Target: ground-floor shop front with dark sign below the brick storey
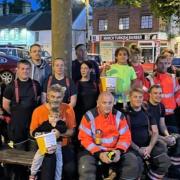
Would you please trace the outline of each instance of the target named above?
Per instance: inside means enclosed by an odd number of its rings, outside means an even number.
[[[157,33],[92,35],[92,52],[101,54],[103,61],[114,61],[116,48],[137,44],[144,62],[153,63],[162,48],[168,46],[167,39]]]

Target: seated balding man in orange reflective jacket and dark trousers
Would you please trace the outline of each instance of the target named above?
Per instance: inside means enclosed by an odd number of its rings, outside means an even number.
[[[127,152],[131,134],[126,118],[113,109],[113,104],[112,94],[103,92],[97,107],[82,118],[78,136],[83,147],[79,154],[80,180],[95,180],[99,163],[113,169],[120,179],[137,179],[139,175],[137,157]]]

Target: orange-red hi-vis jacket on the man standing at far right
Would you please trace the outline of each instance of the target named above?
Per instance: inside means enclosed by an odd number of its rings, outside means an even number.
[[[166,115],[173,114],[176,108],[176,100],[180,86],[174,74],[169,73],[155,73],[146,77],[144,81],[143,90],[148,92],[148,89],[154,85],[159,84],[162,88],[161,103],[165,106]],[[147,98],[147,95],[145,95]],[[147,99],[146,99],[147,100]]]

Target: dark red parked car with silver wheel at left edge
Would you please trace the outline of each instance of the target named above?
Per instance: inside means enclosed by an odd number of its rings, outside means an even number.
[[[17,68],[17,57],[0,55],[0,76],[5,84],[13,81]]]

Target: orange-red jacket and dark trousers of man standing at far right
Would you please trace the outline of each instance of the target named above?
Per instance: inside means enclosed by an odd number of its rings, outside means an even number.
[[[179,106],[180,86],[173,74],[169,73],[154,73],[146,77],[143,90],[147,93],[148,89],[159,84],[162,88],[162,104],[165,106],[165,121],[169,132],[177,133],[178,125],[175,118],[174,110]],[[145,94],[145,99],[148,100],[148,95]]]

